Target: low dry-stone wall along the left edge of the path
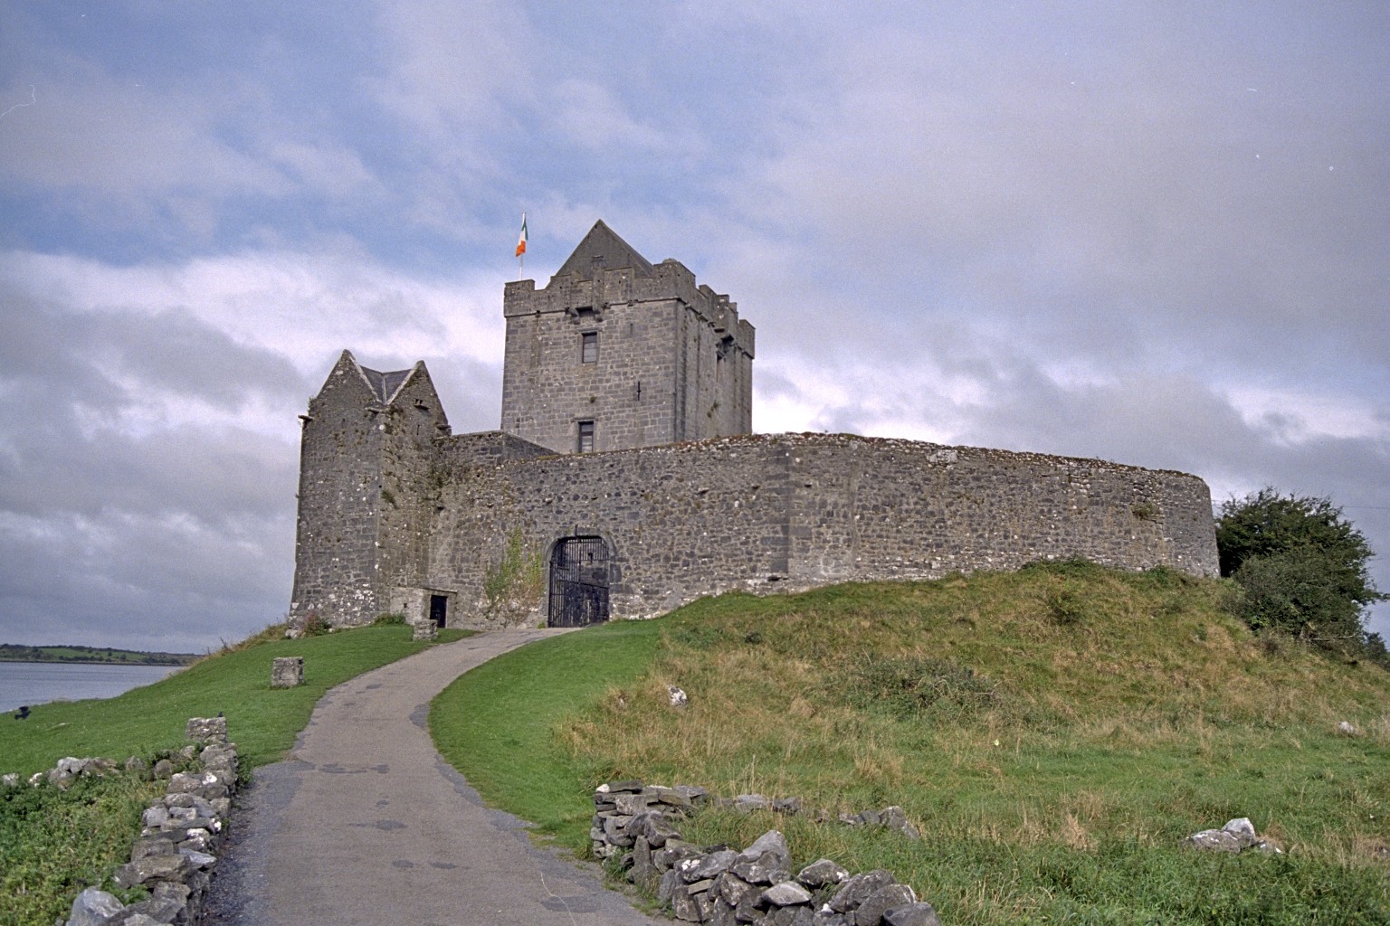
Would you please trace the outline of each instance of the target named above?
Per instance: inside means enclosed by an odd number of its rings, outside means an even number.
[[[217,865],[217,847],[236,791],[236,744],[227,741],[225,718],[193,718],[188,747],[197,771],[174,772],[168,789],[143,815],[131,861],[115,870],[121,887],[145,886],[150,897],[124,905],[107,891],[89,887],[72,902],[65,926],[195,926]],[[156,775],[158,773],[156,765]]]

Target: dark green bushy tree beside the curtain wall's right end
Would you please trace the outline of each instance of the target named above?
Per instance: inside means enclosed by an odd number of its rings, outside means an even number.
[[[1371,544],[1327,498],[1261,489],[1230,498],[1216,521],[1220,573],[1244,591],[1241,616],[1340,653],[1376,658],[1384,643],[1364,626],[1387,596],[1366,568]]]

